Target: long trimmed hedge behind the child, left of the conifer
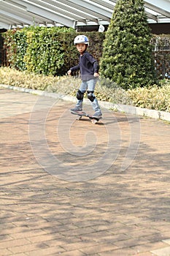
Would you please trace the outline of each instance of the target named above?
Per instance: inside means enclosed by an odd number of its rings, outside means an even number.
[[[9,30],[4,33],[8,65],[20,71],[43,75],[65,75],[77,64],[74,29],[34,27]],[[100,59],[104,34],[86,32],[90,39],[90,53]]]

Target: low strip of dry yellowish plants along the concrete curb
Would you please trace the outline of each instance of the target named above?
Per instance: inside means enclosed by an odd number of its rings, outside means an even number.
[[[35,75],[1,67],[0,83],[75,96],[81,80],[69,76]],[[95,94],[97,99],[101,101],[170,112],[170,80],[163,80],[160,86],[154,85],[149,88],[143,87],[125,91],[115,83],[100,78],[96,84]]]

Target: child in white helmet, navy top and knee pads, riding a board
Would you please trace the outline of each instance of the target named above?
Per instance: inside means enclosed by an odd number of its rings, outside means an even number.
[[[101,109],[98,105],[98,100],[94,95],[94,89],[98,80],[98,63],[93,56],[86,50],[89,45],[88,37],[80,35],[74,38],[74,45],[76,45],[77,50],[80,53],[80,61],[77,66],[69,69],[68,74],[71,75],[72,72],[80,69],[82,83],[80,89],[77,91],[77,105],[72,108],[71,111],[82,112],[82,101],[85,91],[88,92],[88,99],[90,99],[93,110],[95,113],[94,117],[101,118]]]

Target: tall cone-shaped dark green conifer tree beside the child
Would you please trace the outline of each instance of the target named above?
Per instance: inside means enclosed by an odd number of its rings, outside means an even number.
[[[117,0],[104,39],[101,76],[123,89],[156,83],[143,0]]]

